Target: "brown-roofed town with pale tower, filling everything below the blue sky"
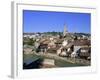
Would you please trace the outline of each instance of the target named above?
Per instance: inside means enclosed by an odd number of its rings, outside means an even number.
[[[91,35],[62,32],[23,33],[23,69],[91,65]]]

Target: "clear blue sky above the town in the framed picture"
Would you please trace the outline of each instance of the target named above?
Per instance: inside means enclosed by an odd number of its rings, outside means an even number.
[[[62,32],[64,25],[66,25],[68,32],[90,33],[91,14],[23,10],[24,33]]]

